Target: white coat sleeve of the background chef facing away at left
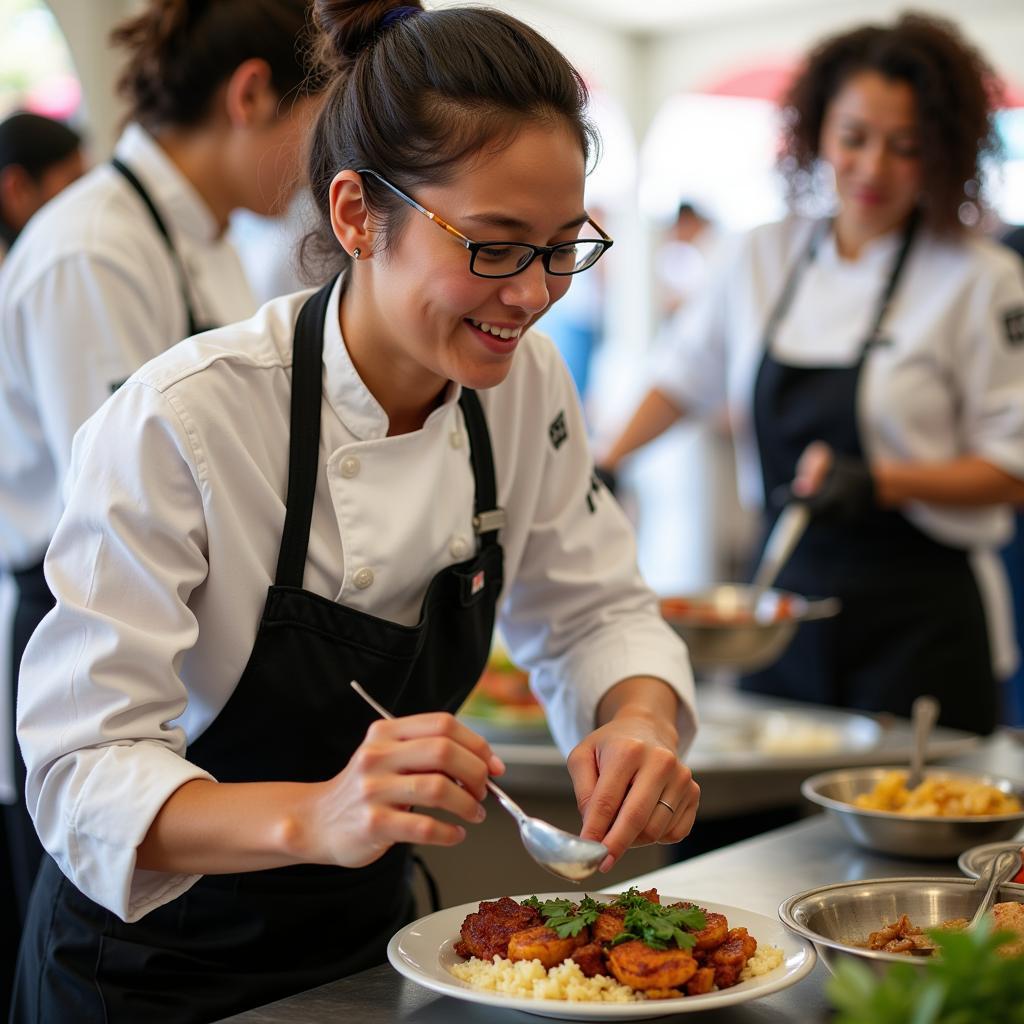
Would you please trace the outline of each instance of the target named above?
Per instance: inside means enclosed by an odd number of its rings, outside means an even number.
[[[83,252],[54,263],[18,301],[29,379],[60,481],[75,431],[138,368],[130,353],[168,347],[152,290],[123,260]]]

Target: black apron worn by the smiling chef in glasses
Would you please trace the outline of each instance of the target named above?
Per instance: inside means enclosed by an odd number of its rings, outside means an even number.
[[[460,406],[476,486],[478,554],[433,578],[417,626],[302,589],[324,458],[331,287],[306,302],[295,332],[287,516],[275,582],[234,693],[188,748],[188,760],[221,782],[331,778],[377,717],[349,680],[359,680],[397,715],[454,712],[490,648],[504,514],[497,509],[486,422],[468,389]],[[358,869],[298,865],[206,876],[132,925],[83,896],[47,859],[22,945],[12,1016],[18,1024],[217,1020],[382,963],[390,936],[413,918],[406,846]]]

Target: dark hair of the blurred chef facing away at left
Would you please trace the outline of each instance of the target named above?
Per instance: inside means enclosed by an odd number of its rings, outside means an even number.
[[[269,65],[283,99],[315,91],[309,22],[306,0],[148,0],[111,33],[129,51],[118,91],[151,129],[203,121],[217,88],[252,57]]]

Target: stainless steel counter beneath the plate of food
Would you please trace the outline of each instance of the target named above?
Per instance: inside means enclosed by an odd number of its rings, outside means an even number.
[[[956,759],[958,766],[1024,779],[1024,746],[1009,734],[986,741]],[[831,818],[815,816],[784,828],[633,880],[667,894],[722,902],[774,918],[793,893],[830,882],[900,876],[957,874],[952,861],[904,860],[853,846]],[[499,887],[500,888],[500,887]],[[494,895],[500,895],[498,891]],[[738,1007],[680,1014],[667,1021],[715,1024],[824,1022],[827,971],[820,965],[803,981],[773,995]],[[385,965],[259,1010],[231,1017],[232,1024],[528,1024],[543,1018],[496,1011],[440,996],[404,980]]]

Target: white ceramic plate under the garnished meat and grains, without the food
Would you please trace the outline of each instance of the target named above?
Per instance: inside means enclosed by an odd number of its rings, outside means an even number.
[[[581,892],[538,893],[541,899],[579,900]],[[597,900],[610,902],[613,896],[593,894]],[[495,897],[496,899],[498,897]],[[523,896],[514,896],[521,900]],[[693,1013],[699,1010],[714,1010],[716,1007],[730,1006],[758,999],[762,995],[777,992],[796,984],[814,967],[814,947],[803,939],[787,932],[778,921],[751,913],[723,903],[707,903],[694,896],[662,896],[665,903],[675,903],[679,899],[691,899],[715,913],[724,913],[730,928],[745,928],[758,940],[758,945],[778,946],[784,959],[779,967],[760,978],[742,981],[732,988],[707,995],[687,995],[678,999],[657,999],[641,1002],[567,1002],[560,999],[523,999],[510,995],[499,995],[471,988],[449,972],[454,964],[464,963],[454,945],[460,937],[460,929],[467,914],[475,913],[479,903],[464,903],[447,910],[439,910],[407,925],[388,943],[387,955],[391,966],[410,981],[418,985],[450,995],[455,999],[481,1002],[503,1010],[522,1010],[540,1017],[556,1017],[573,1021],[625,1021],[650,1020],[654,1017],[670,1017],[673,1014]]]

